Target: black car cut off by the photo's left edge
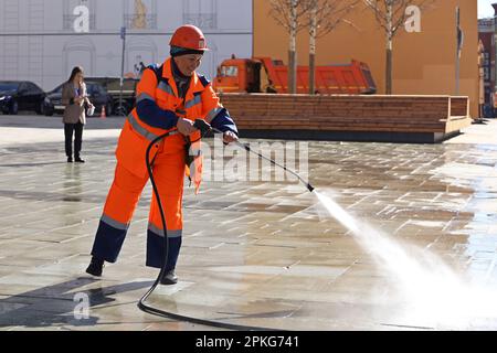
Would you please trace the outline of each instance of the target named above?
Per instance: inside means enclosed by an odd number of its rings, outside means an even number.
[[[0,81],[0,110],[17,115],[19,110],[44,113],[46,94],[29,81]]]

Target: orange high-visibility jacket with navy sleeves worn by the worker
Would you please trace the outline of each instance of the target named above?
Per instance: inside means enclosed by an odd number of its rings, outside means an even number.
[[[166,151],[179,152],[184,149],[184,138],[176,130],[178,117],[192,121],[201,118],[223,132],[237,133],[236,126],[220,104],[212,85],[203,76],[194,73],[186,98],[178,97],[171,65],[171,58],[168,58],[163,63],[161,77],[157,77],[157,69],[154,67],[144,72],[137,85],[137,107],[127,117],[119,136],[117,161],[138,176],[146,176],[145,152],[158,136],[171,132],[165,141]],[[190,139],[200,139],[200,131],[192,133]],[[150,150],[150,160],[154,160],[157,150],[158,146]]]

